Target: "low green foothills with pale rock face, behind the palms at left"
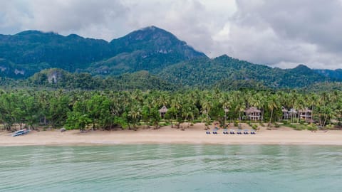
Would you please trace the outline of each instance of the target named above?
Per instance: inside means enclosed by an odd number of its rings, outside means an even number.
[[[12,82],[13,83],[13,82]],[[173,85],[147,71],[125,73],[116,77],[100,78],[89,73],[69,73],[57,68],[42,70],[28,80],[21,82],[21,87],[63,88],[81,90],[176,90]]]

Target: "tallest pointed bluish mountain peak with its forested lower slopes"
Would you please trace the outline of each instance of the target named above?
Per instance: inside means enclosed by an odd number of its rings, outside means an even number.
[[[172,33],[150,26],[110,42],[114,57],[90,65],[88,72],[105,75],[157,71],[192,58],[207,58]]]

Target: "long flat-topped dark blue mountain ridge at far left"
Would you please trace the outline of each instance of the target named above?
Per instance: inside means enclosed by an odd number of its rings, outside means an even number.
[[[24,71],[43,63],[45,68],[73,72],[111,55],[111,46],[107,41],[76,35],[23,31],[14,36],[0,36],[0,58],[13,63],[13,68],[20,67]]]

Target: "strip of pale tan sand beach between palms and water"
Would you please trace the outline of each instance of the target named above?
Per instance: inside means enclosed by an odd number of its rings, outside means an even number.
[[[187,127],[187,125],[183,125]],[[247,127],[244,124],[244,127]],[[280,127],[266,130],[261,127],[257,134],[205,134],[204,124],[198,123],[185,131],[171,128],[160,129],[89,131],[79,130],[60,132],[58,129],[31,131],[24,136],[11,137],[9,132],[0,132],[0,146],[31,145],[102,145],[102,144],[308,144],[342,145],[342,131],[328,132],[295,131]]]

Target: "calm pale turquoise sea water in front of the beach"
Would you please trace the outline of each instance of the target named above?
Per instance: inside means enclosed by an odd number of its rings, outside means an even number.
[[[3,146],[0,154],[0,191],[342,190],[342,146]]]

